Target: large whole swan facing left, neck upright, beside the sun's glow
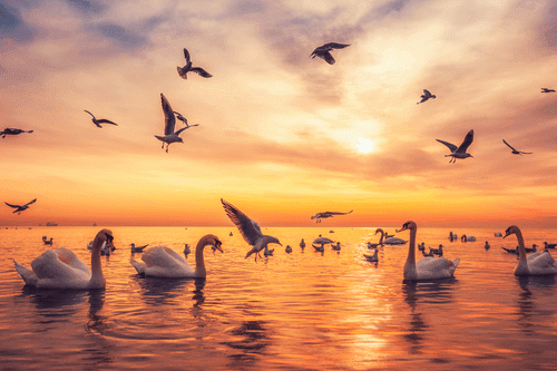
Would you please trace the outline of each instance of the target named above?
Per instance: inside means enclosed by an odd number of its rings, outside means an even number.
[[[404,281],[429,281],[439,279],[450,279],[460,258],[449,261],[447,257],[423,257],[416,262],[416,231],[418,226],[414,222],[407,222],[397,232],[410,230],[410,244],[408,247],[407,263],[404,264]]]

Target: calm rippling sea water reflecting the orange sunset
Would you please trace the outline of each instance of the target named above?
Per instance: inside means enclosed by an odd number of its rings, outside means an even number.
[[[452,230],[478,242],[450,243],[447,228],[418,228],[418,242],[442,243],[461,262],[453,280],[403,284],[408,244],[369,263],[374,228],[330,230],[270,227],[293,253],[276,246],[255,263],[233,227],[113,227],[107,287],[63,291],[26,287],[11,258],[30,266],[50,248],[47,235],[89,265],[99,227],[2,228],[2,370],[556,370],[556,279],[512,274],[517,258],[500,247],[515,247],[515,236]],[[182,252],[207,233],[224,254],[205,250],[206,280],[143,279],[129,264],[133,242]],[[557,243],[555,230],[522,233],[527,246]],[[340,241],[340,253],[300,248],[319,234]]]

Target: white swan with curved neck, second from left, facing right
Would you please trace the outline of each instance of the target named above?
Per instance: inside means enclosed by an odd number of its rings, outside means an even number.
[[[182,255],[166,246],[155,246],[147,248],[143,253],[141,260],[144,263],[130,257],[129,262],[136,269],[137,273],[146,276],[167,277],[167,279],[186,279],[186,277],[205,277],[205,261],[203,258],[203,250],[205,246],[215,246],[221,253],[222,242],[217,236],[207,234],[203,236],[195,247],[195,270],[186,262]]]

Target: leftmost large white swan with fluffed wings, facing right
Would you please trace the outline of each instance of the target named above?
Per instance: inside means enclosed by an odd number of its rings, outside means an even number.
[[[49,289],[104,289],[106,280],[100,265],[100,250],[113,245],[113,232],[102,230],[92,242],[91,269],[68,248],[48,250],[31,262],[32,271],[13,261],[26,284]]]

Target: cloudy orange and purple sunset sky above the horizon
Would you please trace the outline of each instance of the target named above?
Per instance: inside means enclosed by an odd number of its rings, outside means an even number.
[[[557,221],[555,1],[0,0],[0,129],[33,130],[0,138],[1,202],[37,198],[0,225]],[[160,94],[199,124],[168,153]]]

